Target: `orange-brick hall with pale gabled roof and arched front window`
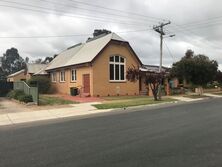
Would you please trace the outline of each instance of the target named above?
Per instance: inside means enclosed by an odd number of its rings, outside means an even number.
[[[85,96],[138,95],[139,81],[126,79],[130,66],[142,63],[129,42],[109,33],[61,52],[46,71],[55,93],[70,94],[76,87]]]

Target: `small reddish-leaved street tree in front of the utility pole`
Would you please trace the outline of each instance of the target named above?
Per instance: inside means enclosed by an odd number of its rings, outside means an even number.
[[[126,75],[127,80],[135,82],[141,77],[145,78],[144,84],[151,88],[154,100],[160,100],[160,97],[158,98],[158,89],[166,77],[166,74],[164,72],[140,71],[139,68],[136,69],[135,67],[128,68]]]

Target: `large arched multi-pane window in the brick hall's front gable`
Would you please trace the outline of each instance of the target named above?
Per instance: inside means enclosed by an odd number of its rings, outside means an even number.
[[[125,58],[118,55],[109,58],[110,81],[125,81],[125,63]]]

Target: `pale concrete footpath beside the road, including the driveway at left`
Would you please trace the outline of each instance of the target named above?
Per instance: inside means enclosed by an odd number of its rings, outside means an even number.
[[[213,95],[213,94],[205,94],[205,95],[209,97],[213,97],[213,98],[222,97],[222,96]],[[192,101],[204,99],[204,98],[192,99],[192,98],[187,98],[187,97],[182,97],[182,96],[170,96],[170,98],[173,98],[178,101],[183,101],[183,102],[192,102]],[[91,103],[71,104],[70,106],[65,107],[65,108],[28,111],[27,107],[16,104],[16,102],[11,102],[10,100],[7,100],[7,99],[4,99],[4,102],[2,101],[0,102],[1,102],[0,103],[0,126],[15,125],[19,123],[42,121],[42,120],[85,116],[85,115],[111,112],[114,110],[114,109],[98,110],[92,105],[98,104],[99,102],[91,102]],[[4,109],[5,106],[7,106],[9,109],[8,110]]]

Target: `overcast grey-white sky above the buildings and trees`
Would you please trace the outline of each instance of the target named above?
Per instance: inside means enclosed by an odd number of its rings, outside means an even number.
[[[94,29],[108,29],[127,40],[143,64],[179,61],[187,49],[218,62],[222,69],[220,0],[0,0],[0,56],[15,47],[30,60],[53,56],[85,42]],[[169,35],[175,34],[174,37]]]

